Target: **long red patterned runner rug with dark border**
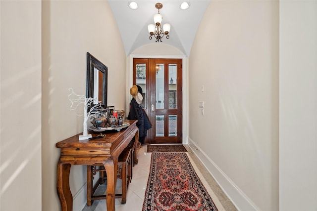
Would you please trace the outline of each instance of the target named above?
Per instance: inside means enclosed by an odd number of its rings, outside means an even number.
[[[154,152],[143,211],[217,211],[186,153]]]

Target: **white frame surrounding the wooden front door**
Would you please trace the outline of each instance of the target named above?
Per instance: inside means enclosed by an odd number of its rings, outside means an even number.
[[[183,144],[188,144],[188,121],[187,121],[187,69],[186,69],[186,56],[181,55],[136,55],[136,54],[130,54],[129,55],[129,65],[127,67],[127,79],[126,82],[129,84],[128,87],[126,87],[127,94],[126,94],[126,113],[130,110],[130,101],[131,101],[131,94],[130,94],[130,87],[133,85],[133,58],[162,58],[162,59],[182,59],[182,84],[183,84],[183,90],[182,90],[182,130],[183,130]]]

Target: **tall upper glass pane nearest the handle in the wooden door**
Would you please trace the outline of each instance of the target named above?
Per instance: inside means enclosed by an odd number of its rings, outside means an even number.
[[[164,64],[157,64],[156,71],[156,109],[164,108]]]

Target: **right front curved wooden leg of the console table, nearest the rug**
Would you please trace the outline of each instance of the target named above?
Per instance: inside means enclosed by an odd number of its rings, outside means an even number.
[[[107,211],[115,211],[115,186],[117,182],[118,158],[108,158],[104,164],[107,174]]]

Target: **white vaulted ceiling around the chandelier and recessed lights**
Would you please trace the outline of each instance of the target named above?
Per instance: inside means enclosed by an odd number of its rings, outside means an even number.
[[[169,39],[165,36],[162,43],[170,44],[189,56],[200,21],[210,0],[186,0],[190,7],[181,10],[180,4],[185,0],[135,0],[138,8],[133,10],[128,6],[131,0],[108,0],[114,18],[117,22],[126,55],[136,48],[153,43],[149,39],[148,25],[154,24],[153,16],[158,13],[156,3],[162,3],[159,10],[162,23],[171,25]],[[160,44],[160,43],[158,43]]]

